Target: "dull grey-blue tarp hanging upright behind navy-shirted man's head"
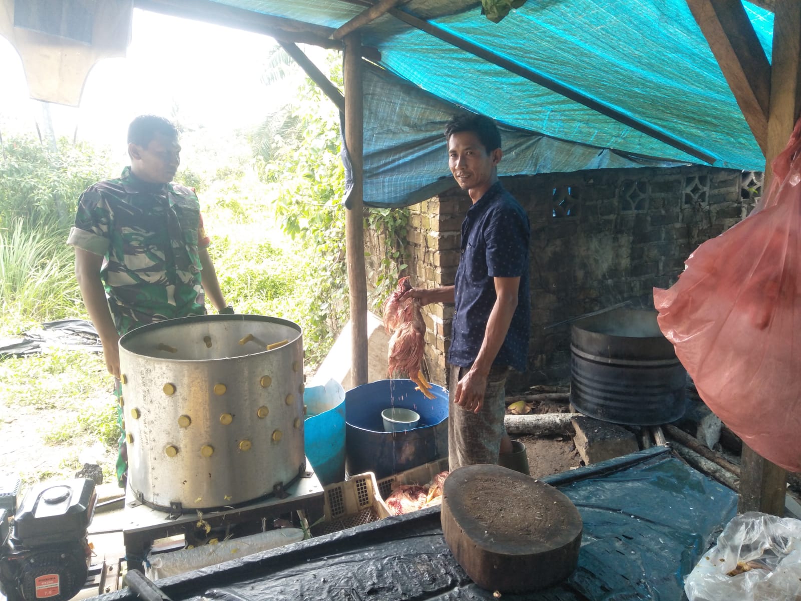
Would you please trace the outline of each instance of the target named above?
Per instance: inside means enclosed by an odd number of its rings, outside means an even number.
[[[404,207],[453,188],[445,123],[460,108],[377,67],[364,70],[364,203]],[[686,163],[566,142],[500,124],[500,175]],[[349,167],[347,157],[345,164]],[[348,189],[350,170],[346,169]]]

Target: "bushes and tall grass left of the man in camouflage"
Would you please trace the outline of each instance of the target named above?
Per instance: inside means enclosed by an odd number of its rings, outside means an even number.
[[[108,156],[61,139],[56,151],[12,137],[0,162],[0,333],[74,316],[80,295],[64,245],[84,188],[108,174]]]

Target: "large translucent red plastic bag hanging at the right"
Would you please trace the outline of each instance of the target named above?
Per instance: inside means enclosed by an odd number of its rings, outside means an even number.
[[[751,216],[654,288],[662,333],[706,405],[763,458],[801,471],[801,120]]]

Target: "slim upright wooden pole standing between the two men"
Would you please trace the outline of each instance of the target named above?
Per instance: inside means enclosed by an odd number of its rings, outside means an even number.
[[[351,384],[367,384],[367,274],[364,268],[364,96],[361,79],[361,36],[344,38],[345,144],[353,189],[345,214],[345,244],[350,291]]]

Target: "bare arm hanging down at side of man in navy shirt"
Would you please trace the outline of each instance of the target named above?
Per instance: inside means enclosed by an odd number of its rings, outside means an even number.
[[[459,381],[454,400],[457,405],[475,413],[478,413],[484,404],[489,368],[493,366],[506,333],[509,332],[509,325],[512,324],[512,317],[517,309],[517,292],[520,288],[519,277],[496,277],[493,280],[497,298],[492,312],[489,313],[484,341],[481,342],[481,349],[473,361],[473,366]]]

